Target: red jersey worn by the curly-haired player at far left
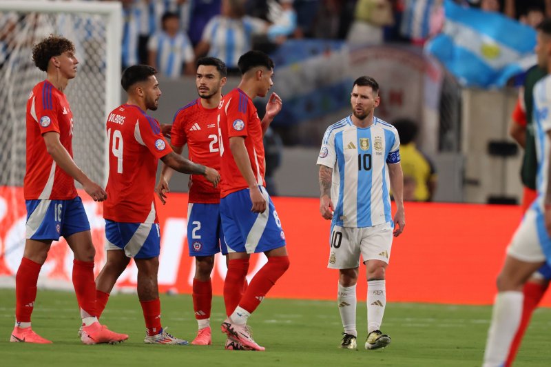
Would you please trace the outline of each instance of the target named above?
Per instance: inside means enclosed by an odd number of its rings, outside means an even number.
[[[46,150],[43,134],[59,133],[59,141],[73,156],[73,114],[63,92],[41,81],[27,101],[27,171],[23,181],[25,200],[68,200],[76,197],[74,179],[59,168]]]

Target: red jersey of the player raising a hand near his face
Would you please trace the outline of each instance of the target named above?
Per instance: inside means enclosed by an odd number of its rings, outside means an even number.
[[[262,126],[252,99],[239,88],[232,90],[224,97],[224,101],[220,105],[219,128],[222,137],[222,146],[220,147],[222,157],[220,162],[221,197],[249,187],[231,155],[231,150],[229,150],[229,138],[231,137],[245,138],[245,147],[249,153],[249,161],[256,181],[259,186],[266,186]]]

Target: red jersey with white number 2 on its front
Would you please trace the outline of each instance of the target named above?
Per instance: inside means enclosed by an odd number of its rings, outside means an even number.
[[[220,170],[218,148],[218,108],[204,108],[200,99],[180,108],[174,115],[170,132],[173,146],[187,143],[189,160],[215,170]],[[189,202],[203,204],[220,203],[220,188],[201,175],[191,175]]]

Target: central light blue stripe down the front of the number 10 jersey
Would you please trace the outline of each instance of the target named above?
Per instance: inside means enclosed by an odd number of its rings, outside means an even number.
[[[362,139],[368,139],[369,148],[362,150]],[[356,147],[358,152],[356,221],[358,227],[371,227],[371,184],[373,182],[373,139],[371,129],[356,129]],[[366,169],[368,168],[368,169]]]

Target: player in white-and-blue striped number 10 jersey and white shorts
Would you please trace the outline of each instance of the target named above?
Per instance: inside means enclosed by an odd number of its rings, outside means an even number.
[[[379,103],[377,81],[356,79],[352,115],[327,128],[318,157],[320,212],[324,219],[331,219],[328,268],[339,269],[337,302],[344,327],[341,348],[348,349],[357,344],[360,254],[368,285],[365,348],[384,348],[391,343],[391,337],[380,331],[386,306],[385,270],[393,235],[399,236],[406,225],[398,132],[373,115]],[[394,217],[390,189],[397,208]]]

